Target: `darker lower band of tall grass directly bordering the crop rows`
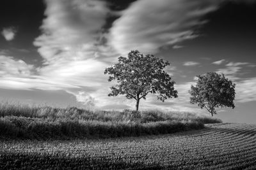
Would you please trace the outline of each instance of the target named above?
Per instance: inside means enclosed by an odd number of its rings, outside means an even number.
[[[67,120],[25,117],[1,117],[0,139],[83,139],[115,138],[167,134],[171,132],[201,129],[204,124],[186,121],[100,122],[95,120]]]

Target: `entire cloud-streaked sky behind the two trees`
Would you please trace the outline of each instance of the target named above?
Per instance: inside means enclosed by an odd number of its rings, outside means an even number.
[[[0,100],[92,110],[134,109],[108,97],[104,69],[131,50],[170,62],[178,98],[140,102],[140,110],[208,114],[189,103],[196,75],[223,73],[236,83],[223,122],[256,123],[254,0],[2,0]]]

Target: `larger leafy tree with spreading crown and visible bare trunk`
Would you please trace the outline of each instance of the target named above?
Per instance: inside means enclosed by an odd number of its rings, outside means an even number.
[[[143,55],[138,50],[128,53],[128,57],[119,57],[118,63],[105,69],[104,74],[110,74],[108,81],[116,80],[117,85],[110,87],[108,96],[125,95],[127,99],[136,100],[138,111],[140,99],[146,99],[148,93],[158,94],[157,99],[164,102],[167,98],[178,97],[174,90],[172,78],[163,71],[170,65],[168,61]]]

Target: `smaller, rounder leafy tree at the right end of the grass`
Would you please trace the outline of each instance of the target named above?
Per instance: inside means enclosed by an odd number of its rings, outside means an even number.
[[[216,114],[215,108],[235,108],[236,84],[225,78],[224,74],[207,73],[197,77],[195,87],[191,85],[189,90],[192,96],[190,103],[198,104],[201,109],[206,108],[212,117]]]

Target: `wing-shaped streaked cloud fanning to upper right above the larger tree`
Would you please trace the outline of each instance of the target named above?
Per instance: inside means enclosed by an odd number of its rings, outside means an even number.
[[[110,29],[109,43],[124,54],[129,50],[154,53],[160,47],[193,39],[193,27],[207,22],[202,17],[220,1],[141,0],[131,4]]]

